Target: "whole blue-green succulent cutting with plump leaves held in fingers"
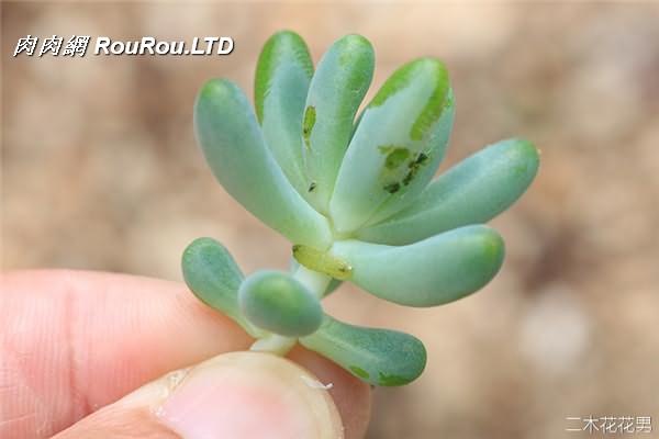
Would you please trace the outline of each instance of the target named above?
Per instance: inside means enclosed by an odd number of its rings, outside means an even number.
[[[284,354],[295,342],[372,385],[402,385],[423,371],[415,337],[343,323],[321,300],[348,281],[383,300],[436,306],[485,285],[504,245],[482,225],[534,179],[538,153],[507,139],[437,179],[455,114],[445,66],[399,68],[356,117],[373,74],[359,35],[336,41],[315,71],[303,40],[279,32],[256,67],[255,110],[233,82],[212,79],[194,105],[198,143],[225,190],[292,244],[289,273],[244,277],[211,238],[185,250],[192,292]]]

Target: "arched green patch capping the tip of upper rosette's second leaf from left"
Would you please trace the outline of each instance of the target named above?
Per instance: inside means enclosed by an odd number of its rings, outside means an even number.
[[[302,37],[291,31],[272,35],[264,45],[256,65],[254,101],[259,123],[264,120],[264,102],[272,77],[281,63],[295,63],[310,79],[313,76],[313,63]]]

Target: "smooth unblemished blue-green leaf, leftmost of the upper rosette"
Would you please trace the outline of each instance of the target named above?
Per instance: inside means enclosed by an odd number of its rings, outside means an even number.
[[[194,105],[194,128],[213,173],[245,209],[293,243],[328,246],[327,219],[291,187],[238,87],[206,82]]]

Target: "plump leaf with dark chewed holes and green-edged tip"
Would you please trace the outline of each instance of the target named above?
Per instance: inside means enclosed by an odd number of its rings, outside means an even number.
[[[330,213],[348,233],[409,204],[433,178],[453,125],[448,74],[433,58],[396,70],[366,108],[340,166]]]

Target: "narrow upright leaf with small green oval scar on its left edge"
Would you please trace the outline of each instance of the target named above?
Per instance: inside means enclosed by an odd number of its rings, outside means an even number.
[[[372,79],[373,49],[362,36],[346,35],[323,55],[311,80],[302,119],[308,200],[328,209],[336,175],[348,147],[357,109]]]

